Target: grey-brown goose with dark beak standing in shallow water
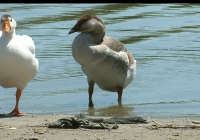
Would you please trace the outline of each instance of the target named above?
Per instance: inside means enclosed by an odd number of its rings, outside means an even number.
[[[118,93],[121,104],[123,89],[134,79],[136,60],[124,44],[105,37],[105,24],[93,15],[80,17],[69,34],[81,32],[72,43],[72,55],[87,75],[89,106],[93,106],[94,84],[101,89]]]

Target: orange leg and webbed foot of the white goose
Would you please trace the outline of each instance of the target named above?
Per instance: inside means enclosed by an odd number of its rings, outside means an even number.
[[[17,90],[16,91],[16,104],[15,104],[15,108],[13,109],[12,112],[9,113],[9,115],[12,115],[12,116],[25,116],[26,115],[23,112],[19,112],[19,108],[18,108],[21,94],[22,94],[21,90]]]

